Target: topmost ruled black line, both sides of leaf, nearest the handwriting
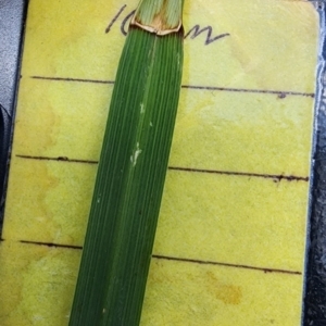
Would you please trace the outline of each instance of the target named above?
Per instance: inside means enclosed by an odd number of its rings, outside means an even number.
[[[65,78],[65,77],[30,76],[30,78],[42,79],[42,80],[53,80],[53,82],[114,84],[114,80],[98,80],[98,79],[82,79],[82,78]],[[196,86],[196,85],[183,85],[181,88],[201,89],[201,90],[217,90],[217,91],[234,91],[234,92],[271,93],[271,95],[277,95],[280,99],[284,99],[287,96],[300,96],[300,97],[310,97],[310,98],[314,98],[314,96],[315,96],[313,92],[301,92],[301,91],[290,91],[290,90],[265,90],[265,89],[228,88],[228,87]]]

